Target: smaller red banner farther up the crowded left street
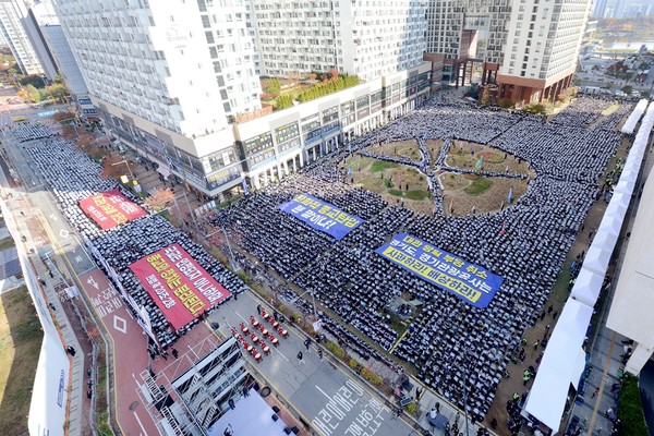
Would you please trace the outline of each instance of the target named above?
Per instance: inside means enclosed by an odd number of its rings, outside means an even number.
[[[84,198],[80,207],[102,230],[112,229],[137,218],[145,217],[147,213],[137,204],[130,202],[119,190],[111,190]]]

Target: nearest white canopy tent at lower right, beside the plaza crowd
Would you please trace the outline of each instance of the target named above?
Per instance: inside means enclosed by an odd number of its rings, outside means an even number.
[[[524,410],[556,432],[570,384],[577,388],[585,352],[582,349],[593,307],[568,299],[552,332]],[[581,366],[581,372],[580,372]]]

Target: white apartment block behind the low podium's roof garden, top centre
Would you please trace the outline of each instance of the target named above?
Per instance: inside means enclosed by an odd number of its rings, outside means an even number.
[[[422,62],[426,0],[250,1],[262,75],[336,69],[366,82]]]

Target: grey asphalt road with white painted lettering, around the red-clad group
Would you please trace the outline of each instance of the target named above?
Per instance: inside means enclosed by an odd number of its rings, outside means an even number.
[[[220,311],[210,315],[210,320],[220,325],[218,331],[230,336],[231,328],[240,331],[240,324],[245,324],[252,331],[262,337],[261,331],[253,329],[250,317],[272,331],[279,339],[279,347],[271,347],[270,355],[255,363],[246,356],[255,371],[275,388],[279,397],[292,403],[302,419],[312,429],[324,436],[401,436],[415,434],[402,417],[395,416],[392,410],[383,404],[380,399],[364,388],[363,384],[343,372],[324,356],[320,359],[315,342],[310,350],[304,346],[304,336],[288,328],[289,338],[283,339],[263,320],[256,312],[261,301],[244,293],[239,300],[230,300]],[[271,313],[268,305],[264,308]],[[267,341],[270,344],[269,341]],[[303,363],[298,360],[298,352],[303,353]],[[325,353],[326,354],[326,353]]]

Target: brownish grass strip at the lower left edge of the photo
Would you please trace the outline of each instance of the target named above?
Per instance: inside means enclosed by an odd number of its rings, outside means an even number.
[[[44,334],[25,287],[0,296],[0,435],[27,428]]]

